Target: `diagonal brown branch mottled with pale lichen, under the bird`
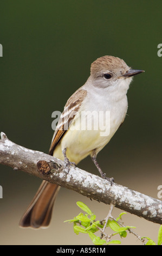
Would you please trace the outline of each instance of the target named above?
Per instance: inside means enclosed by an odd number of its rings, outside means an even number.
[[[17,145],[9,141],[3,132],[0,140],[0,163],[74,190],[99,202],[112,203],[116,208],[148,221],[162,224],[160,200],[116,183],[111,186],[107,180],[74,166],[71,166],[67,173],[66,164],[63,161],[40,151]]]

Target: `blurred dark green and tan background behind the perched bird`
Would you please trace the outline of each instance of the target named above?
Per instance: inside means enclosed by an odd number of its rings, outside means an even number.
[[[134,77],[125,122],[99,153],[98,162],[116,183],[157,198],[162,184],[162,57],[157,55],[161,8],[160,0],[3,1],[0,130],[17,144],[48,153],[54,132],[51,113],[62,111],[69,96],[86,82],[96,58],[120,57],[145,73]],[[98,174],[90,157],[79,167]],[[73,224],[63,221],[79,214],[78,200],[98,220],[107,216],[109,206],[65,188],[59,192],[48,229],[18,227],[40,183],[34,176],[0,166],[1,245],[91,245],[88,235],[74,234]],[[114,217],[120,212],[115,209]],[[158,224],[131,214],[124,222],[157,242]],[[131,234],[121,242],[141,244]]]

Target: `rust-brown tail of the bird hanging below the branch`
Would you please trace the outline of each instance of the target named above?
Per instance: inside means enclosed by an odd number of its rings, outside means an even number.
[[[47,228],[60,186],[43,181],[21,218],[20,227]]]

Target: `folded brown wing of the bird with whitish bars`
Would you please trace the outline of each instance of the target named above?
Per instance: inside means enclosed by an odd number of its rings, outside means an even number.
[[[49,149],[49,155],[53,155],[56,145],[60,142],[63,135],[68,130],[69,124],[72,124],[72,120],[74,119],[76,112],[79,110],[86,95],[87,91],[80,88],[68,99],[66,105],[64,106],[60,120],[56,126],[53,141],[51,142]]]

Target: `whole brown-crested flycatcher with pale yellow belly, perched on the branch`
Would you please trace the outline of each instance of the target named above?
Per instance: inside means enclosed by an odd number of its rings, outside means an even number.
[[[126,94],[129,84],[132,76],[141,72],[144,71],[131,69],[124,60],[117,57],[104,56],[96,59],[91,65],[87,82],[76,90],[64,107],[49,154],[64,160],[68,169],[70,164],[77,164],[90,155],[101,177],[105,179],[106,175],[96,161],[96,156],[124,122],[128,108]],[[87,114],[92,112],[93,115]],[[96,122],[101,123],[101,113],[103,126],[109,131],[105,136],[100,125],[98,129],[94,129]],[[109,113],[108,122],[104,113]],[[93,119],[92,129],[88,129],[89,117]],[[81,129],[83,123],[84,129]],[[113,182],[113,178],[106,179]],[[59,189],[59,185],[43,181],[25,211],[20,226],[48,227]]]

